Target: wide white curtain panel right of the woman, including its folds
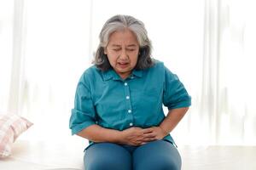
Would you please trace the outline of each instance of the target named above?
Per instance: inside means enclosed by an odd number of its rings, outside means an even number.
[[[207,0],[205,7],[201,134],[213,144],[256,144],[255,4]]]

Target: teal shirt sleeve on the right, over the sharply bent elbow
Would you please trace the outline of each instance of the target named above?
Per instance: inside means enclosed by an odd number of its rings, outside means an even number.
[[[179,81],[177,75],[173,74],[166,67],[163,104],[168,107],[168,110],[189,107],[191,105],[191,98],[183,83]]]

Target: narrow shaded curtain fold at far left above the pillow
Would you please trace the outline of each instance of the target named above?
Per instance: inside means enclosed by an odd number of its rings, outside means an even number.
[[[24,89],[24,50],[26,46],[26,8],[24,0],[14,1],[13,54],[9,83],[8,111],[20,114]]]

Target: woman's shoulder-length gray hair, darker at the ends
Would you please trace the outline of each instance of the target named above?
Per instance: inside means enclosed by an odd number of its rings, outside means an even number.
[[[139,54],[135,69],[143,70],[154,65],[154,60],[151,58],[152,45],[148,38],[148,32],[142,21],[135,19],[129,15],[115,15],[104,24],[100,33],[100,44],[96,50],[93,64],[102,71],[108,71],[111,68],[108,57],[104,54],[104,48],[107,47],[109,37],[114,31],[129,29],[132,31],[139,43]]]

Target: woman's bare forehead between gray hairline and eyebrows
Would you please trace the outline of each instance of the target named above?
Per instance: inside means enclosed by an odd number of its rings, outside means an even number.
[[[138,45],[136,35],[129,29],[114,31],[109,36],[109,45]]]

